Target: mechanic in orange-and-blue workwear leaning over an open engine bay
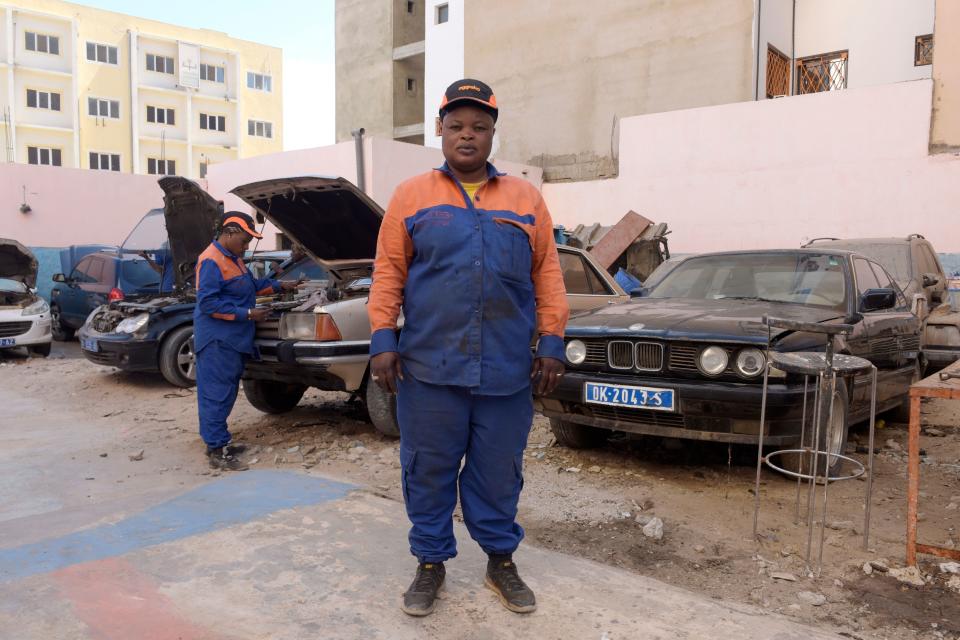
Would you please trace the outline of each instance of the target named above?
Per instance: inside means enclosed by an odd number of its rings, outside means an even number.
[[[197,306],[193,312],[193,348],[197,357],[197,411],[200,437],[210,466],[241,471],[237,457],[246,448],[231,444],[227,418],[237,400],[244,362],[253,357],[255,322],[269,315],[257,308],[257,296],[288,291],[296,282],[251,275],[241,257],[252,238],[253,218],[239,211],[224,214],[220,235],[197,260]]]

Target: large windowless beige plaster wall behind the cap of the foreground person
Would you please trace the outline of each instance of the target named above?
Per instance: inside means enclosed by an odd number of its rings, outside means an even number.
[[[610,176],[619,118],[753,98],[753,23],[753,0],[472,0],[464,73],[497,94],[501,156]]]

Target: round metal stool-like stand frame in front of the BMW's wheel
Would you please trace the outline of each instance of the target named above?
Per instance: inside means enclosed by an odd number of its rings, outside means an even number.
[[[823,542],[827,527],[827,503],[829,498],[828,489],[832,482],[841,480],[852,480],[867,474],[867,488],[864,495],[864,526],[863,526],[863,548],[866,549],[870,537],[870,507],[871,496],[873,493],[873,446],[874,430],[876,426],[877,410],[877,368],[869,361],[863,358],[835,354],[833,346],[833,336],[849,335],[853,331],[851,325],[819,325],[815,323],[796,322],[781,318],[764,318],[767,325],[767,362],[763,373],[763,394],[760,403],[760,433],[757,439],[757,474],[754,484],[753,499],[753,536],[757,538],[759,516],[760,516],[760,474],[763,465],[766,464],[771,469],[778,471],[786,476],[797,479],[796,503],[794,506],[794,524],[800,523],[800,502],[802,481],[806,480],[809,488],[807,491],[806,525],[807,525],[807,551],[805,561],[807,570],[813,572],[810,563],[813,552],[813,530],[816,524],[814,516],[817,511],[817,482],[823,484],[823,499],[820,505],[820,536],[819,549],[817,552],[816,575],[820,575],[823,568]],[[820,333],[826,335],[826,348],[823,353],[779,353],[770,350],[771,330],[773,328],[787,329],[792,331],[801,331],[809,333]],[[780,449],[771,451],[766,456],[763,455],[763,440],[765,435],[766,414],[767,414],[767,392],[769,390],[770,369],[776,366],[777,369],[787,373],[801,374],[803,378],[803,410],[800,419],[800,448],[798,449]],[[858,460],[843,455],[842,453],[830,453],[829,443],[833,442],[837,435],[834,432],[834,402],[833,398],[837,391],[838,378],[845,379],[860,373],[870,373],[870,440],[867,453],[867,465]],[[816,378],[816,386],[813,390],[813,411],[809,412],[811,421],[810,428],[807,427],[808,417],[808,399],[810,396],[810,379]],[[851,399],[852,400],[852,399]],[[848,425],[849,426],[849,425]],[[807,434],[810,434],[809,443]],[[821,439],[821,434],[824,436]],[[823,444],[821,444],[823,443]],[[790,471],[774,463],[778,457],[794,454],[800,456],[801,471]],[[823,471],[819,472],[819,463],[821,456],[824,458]],[[830,468],[837,461],[847,462],[853,469],[846,474],[830,475]],[[804,473],[807,471],[808,473]]]

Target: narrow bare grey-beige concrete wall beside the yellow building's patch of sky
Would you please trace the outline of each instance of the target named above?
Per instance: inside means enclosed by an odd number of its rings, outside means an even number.
[[[395,0],[337,0],[336,140],[393,137],[393,5]]]

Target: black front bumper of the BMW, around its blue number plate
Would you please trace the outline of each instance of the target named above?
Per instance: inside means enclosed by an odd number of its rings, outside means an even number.
[[[673,389],[675,411],[633,409],[584,401],[584,383],[637,385]],[[812,405],[812,388],[810,400]],[[549,396],[535,398],[545,416],[593,427],[669,438],[756,444],[760,433],[759,382],[712,382],[678,378],[618,376],[567,371]],[[764,443],[794,444],[800,439],[803,385],[780,379],[767,390]]]

